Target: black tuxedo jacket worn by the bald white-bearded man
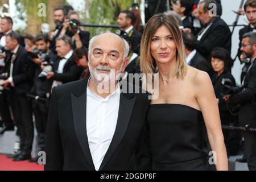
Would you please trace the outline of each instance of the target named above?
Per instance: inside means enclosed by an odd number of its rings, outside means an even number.
[[[52,90],[45,170],[95,170],[86,135],[88,80],[70,82]],[[121,93],[117,126],[99,170],[136,169],[137,142],[146,125],[149,104],[148,94]]]

